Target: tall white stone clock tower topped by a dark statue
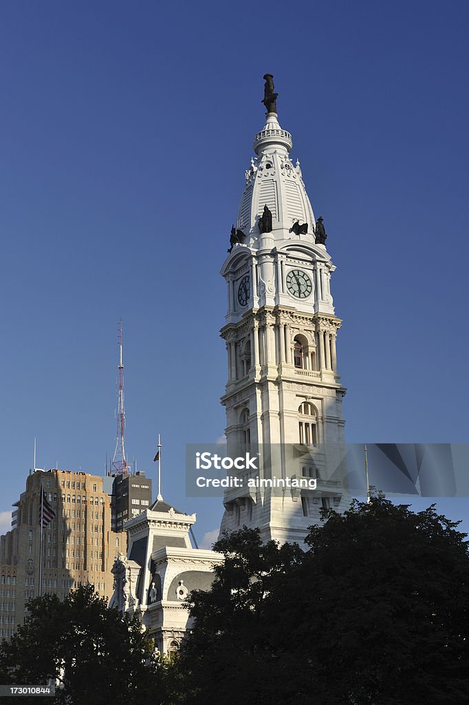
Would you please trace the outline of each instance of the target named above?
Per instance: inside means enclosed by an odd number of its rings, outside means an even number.
[[[254,136],[236,227],[221,274],[227,284],[227,453],[259,453],[225,491],[221,531],[259,527],[263,540],[303,541],[320,508],[343,510],[345,448],[330,278],[335,267],[280,127],[266,74],[265,125]],[[248,486],[249,477],[315,479],[315,489]],[[280,483],[281,484],[281,483]],[[288,483],[287,483],[288,484]],[[292,484],[292,483],[290,483]]]

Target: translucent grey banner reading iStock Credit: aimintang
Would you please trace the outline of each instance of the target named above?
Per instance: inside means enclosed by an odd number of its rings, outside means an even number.
[[[186,494],[230,501],[258,501],[267,492],[290,493],[293,501],[363,497],[365,464],[368,484],[389,496],[469,496],[467,443],[193,443],[186,446]]]

